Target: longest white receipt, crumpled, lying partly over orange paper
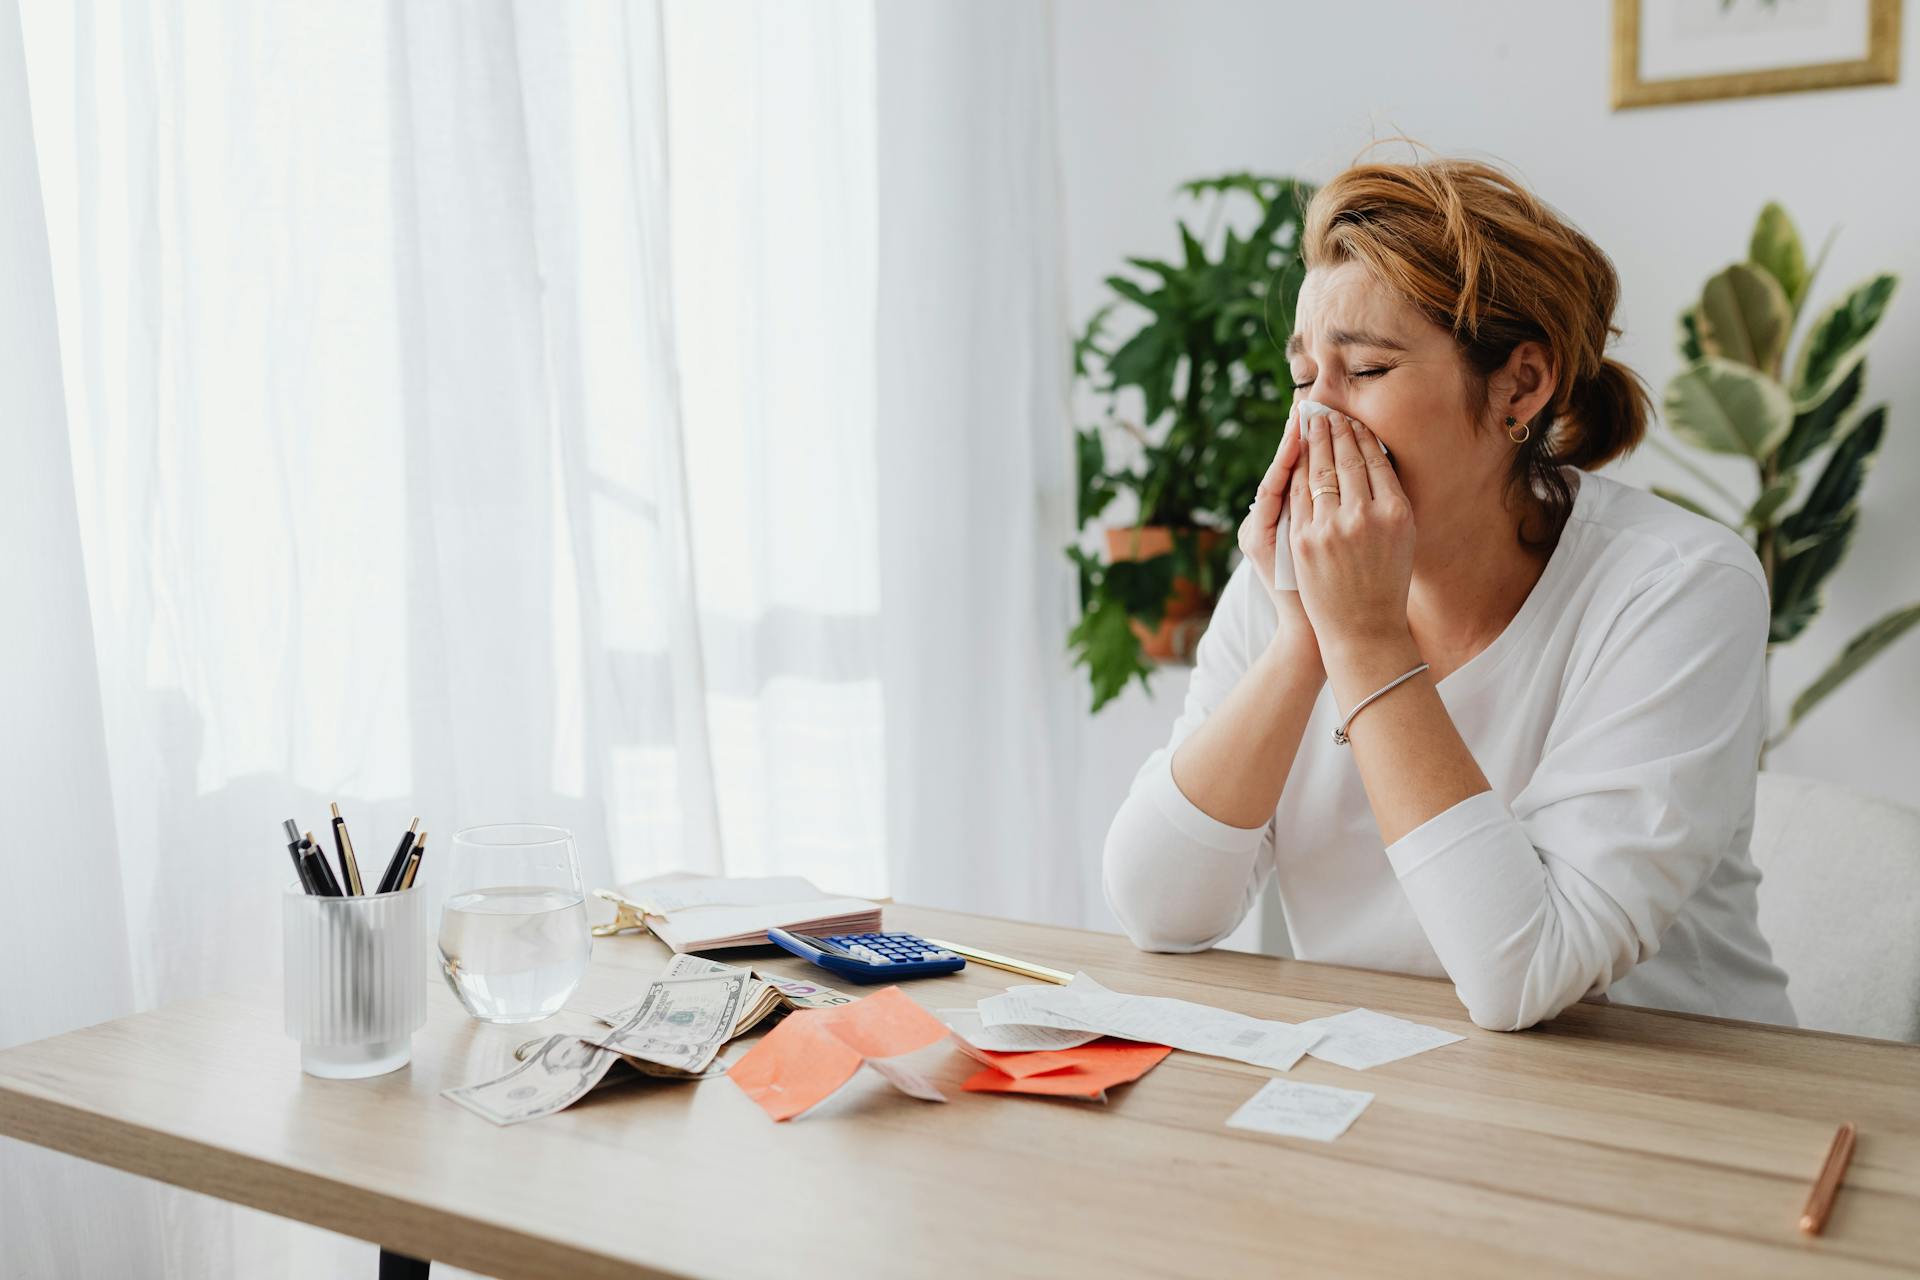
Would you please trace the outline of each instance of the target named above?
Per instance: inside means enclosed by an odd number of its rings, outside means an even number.
[[[1100,986],[1085,973],[1075,973],[1066,986],[1014,986],[1000,996],[987,996],[979,1002],[979,1017],[989,1029],[1079,1027],[1273,1071],[1286,1071],[1325,1036],[1319,1029],[1271,1023],[1190,1000],[1127,996]]]

